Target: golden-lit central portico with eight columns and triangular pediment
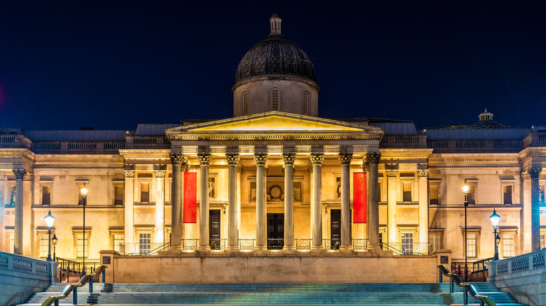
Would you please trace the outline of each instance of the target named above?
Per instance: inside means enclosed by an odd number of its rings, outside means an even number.
[[[311,252],[324,250],[323,238],[330,239],[328,206],[323,198],[335,194],[335,173],[341,186],[341,249],[351,249],[351,172],[361,172],[363,161],[370,159],[370,192],[377,189],[379,141],[383,129],[363,124],[339,122],[284,112],[218,120],[167,129],[172,143],[172,249],[177,249],[175,228],[183,225],[183,182],[178,179],[179,166],[185,163],[197,171],[199,237],[201,252],[209,248],[209,173],[215,174],[217,198],[224,198],[223,214],[228,211],[227,225],[221,225],[226,249],[239,249],[238,240],[251,240],[254,252],[282,249],[293,252],[295,240],[310,241]],[[195,167],[194,167],[195,166]],[[199,168],[197,169],[197,166]],[[237,168],[241,174],[237,175]],[[288,196],[290,195],[290,196]],[[176,214],[176,215],[175,215]],[[379,215],[378,196],[370,196],[368,214]],[[242,218],[241,218],[242,217]],[[244,223],[238,220],[244,219]],[[377,219],[377,218],[376,218]],[[254,222],[255,221],[255,222]],[[283,233],[280,233],[283,232]],[[379,249],[379,224],[370,224],[370,247]],[[279,237],[274,237],[279,233]],[[361,233],[362,237],[364,233]],[[180,238],[179,238],[180,237]],[[186,235],[186,239],[190,238]],[[282,245],[278,245],[282,242]],[[306,243],[306,242],[302,242]],[[308,242],[307,242],[308,243]],[[273,247],[272,247],[273,246]]]

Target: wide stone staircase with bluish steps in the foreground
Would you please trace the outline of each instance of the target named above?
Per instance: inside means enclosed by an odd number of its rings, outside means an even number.
[[[512,296],[488,283],[472,283],[497,305],[512,306]],[[66,284],[35,293],[26,304],[41,305]],[[78,305],[463,305],[462,288],[432,284],[88,284],[78,289]],[[59,305],[73,305],[73,293]],[[469,305],[479,301],[468,298]]]

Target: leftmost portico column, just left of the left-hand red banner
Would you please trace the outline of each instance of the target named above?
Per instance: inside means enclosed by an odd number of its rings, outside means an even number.
[[[169,154],[172,163],[172,194],[171,194],[171,250],[182,249],[182,173],[181,166],[186,163],[186,156],[181,153]]]

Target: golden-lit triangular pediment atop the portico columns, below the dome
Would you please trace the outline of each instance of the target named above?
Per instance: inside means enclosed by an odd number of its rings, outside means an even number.
[[[167,134],[188,132],[365,132],[375,130],[374,126],[340,122],[332,119],[289,114],[286,112],[265,112],[250,116],[222,119],[213,122],[179,126],[167,129]],[[381,130],[381,129],[378,129]]]

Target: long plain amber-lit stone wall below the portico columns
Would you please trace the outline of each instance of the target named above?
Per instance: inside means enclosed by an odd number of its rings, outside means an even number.
[[[437,282],[440,264],[440,254],[387,252],[119,256],[103,251],[101,257],[101,263],[109,266],[106,282],[116,283]]]

